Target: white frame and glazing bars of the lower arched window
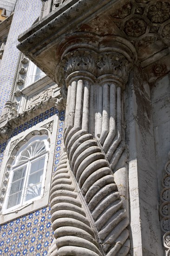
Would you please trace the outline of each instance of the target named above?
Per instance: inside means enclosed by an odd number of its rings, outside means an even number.
[[[36,135],[34,136],[33,138],[31,138],[29,141],[27,141],[26,145],[23,145],[18,154],[16,155],[16,158],[15,160],[13,161],[13,164],[12,164],[12,167],[11,167],[11,171],[10,171],[10,175],[9,175],[9,182],[8,182],[8,187],[7,187],[7,194],[5,195],[6,196],[6,200],[5,200],[5,203],[3,204],[3,208],[2,208],[2,212],[3,214],[6,214],[10,211],[13,211],[14,209],[17,209],[17,208],[20,208],[26,204],[29,204],[30,202],[33,202],[33,201],[36,201],[36,200],[39,200],[40,198],[42,198],[44,196],[44,192],[45,192],[45,189],[44,189],[44,185],[45,185],[45,178],[46,178],[46,167],[47,167],[47,162],[48,162],[48,152],[49,152],[49,143],[47,144],[46,142],[48,139],[48,136],[46,135]],[[22,163],[22,164],[19,164],[17,166],[17,160],[20,158],[20,155],[21,153],[26,149],[28,148],[29,146],[31,146],[33,144],[34,141],[44,141],[45,142],[45,146],[46,146],[46,153],[40,155],[40,157],[42,156],[45,156],[45,163],[44,163],[44,170],[43,170],[43,178],[42,178],[42,185],[41,187],[43,188],[43,191],[42,191],[42,196],[39,195],[39,196],[36,196],[35,198],[33,199],[30,199],[30,200],[27,200],[25,201],[26,199],[26,196],[25,195],[25,190],[27,188],[27,183],[28,183],[28,179],[29,179],[29,175],[30,175],[30,168],[31,168],[31,163],[32,162],[35,162],[37,161],[38,157],[35,157],[35,158],[32,158],[32,159],[29,159],[28,161],[26,161],[25,163]],[[7,208],[7,204],[8,204],[8,198],[11,194],[11,184],[12,184],[12,181],[13,181],[13,175],[14,175],[14,172],[19,169],[19,168],[22,168],[26,166],[26,173],[25,173],[25,178],[24,178],[24,184],[23,184],[23,189],[24,191],[22,191],[22,194],[21,194],[21,199],[20,199],[20,203],[13,206],[13,207],[10,207],[10,208]],[[24,192],[24,193],[23,193]],[[20,192],[16,192],[16,193],[20,193]]]

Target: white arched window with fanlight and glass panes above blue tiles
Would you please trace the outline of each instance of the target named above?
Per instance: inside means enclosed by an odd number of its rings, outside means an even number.
[[[49,152],[47,135],[35,135],[23,145],[11,164],[5,210],[21,207],[44,194]]]

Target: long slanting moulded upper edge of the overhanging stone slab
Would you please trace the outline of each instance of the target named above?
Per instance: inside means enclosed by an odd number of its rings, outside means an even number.
[[[76,2],[76,3],[75,3]],[[118,0],[79,0],[79,1],[72,1],[71,3],[74,3],[71,7],[69,3],[65,7],[67,9],[60,14],[58,14],[58,10],[56,10],[55,16],[52,15],[52,20],[49,17],[49,20],[47,19],[46,25],[44,25],[44,20],[42,21],[42,24],[38,24],[36,28],[34,27],[33,34],[32,31],[30,31],[27,34],[27,37],[22,34],[19,36],[20,44],[17,46],[18,49],[21,52],[27,53],[28,49],[32,49],[36,46],[36,51],[39,49],[42,49],[43,47],[46,47],[48,42],[51,42],[51,34],[53,35],[53,38],[55,37],[55,32],[57,32],[56,38],[64,34],[65,32],[68,32],[68,27],[66,25],[69,25],[69,29],[72,26],[75,26],[75,23],[79,23],[82,20],[85,20],[85,18],[89,17],[90,14],[92,14],[95,11],[97,12],[100,8],[104,7],[108,3],[111,2],[118,2]],[[53,14],[53,13],[52,13]],[[83,15],[82,15],[83,14]],[[76,18],[79,18],[76,20]],[[42,25],[42,27],[41,27]],[[44,25],[44,26],[43,26]],[[35,31],[36,30],[36,31]],[[35,32],[34,32],[35,31]],[[31,34],[31,35],[30,35]],[[25,38],[26,37],[26,38]],[[41,41],[41,45],[39,45],[39,41]]]

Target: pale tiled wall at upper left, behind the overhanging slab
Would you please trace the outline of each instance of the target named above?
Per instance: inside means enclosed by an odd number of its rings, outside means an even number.
[[[14,9],[13,21],[7,37],[7,43],[0,61],[0,116],[10,93],[19,50],[18,36],[31,27],[39,17],[42,2],[40,0],[18,0]]]

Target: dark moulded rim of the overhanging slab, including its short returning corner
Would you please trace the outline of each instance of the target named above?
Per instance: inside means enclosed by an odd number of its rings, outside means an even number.
[[[65,8],[67,7],[67,9],[64,12],[61,13],[61,10],[59,13],[58,10],[54,11],[52,16],[50,16],[49,19],[47,18],[46,22],[43,20],[42,23],[37,25],[37,28],[34,26],[33,31],[26,33],[27,37],[22,34],[18,39],[21,43],[17,47],[21,52],[25,53],[35,65],[38,65],[43,72],[54,80],[54,76],[51,72],[52,69],[50,67],[45,67],[43,63],[40,63],[36,59],[36,56],[45,49],[48,50],[49,44],[50,47],[55,45],[56,40],[59,40],[60,36],[68,33],[68,28],[69,31],[71,31],[76,24],[79,25],[80,23],[83,23],[85,19],[89,20],[94,12],[97,15],[98,12],[101,12],[101,9],[104,6],[105,9],[109,8],[111,3],[114,2],[118,2],[118,0],[97,0],[95,2],[94,0],[71,1],[69,4],[65,5]],[[73,5],[71,6],[71,4]],[[52,20],[50,19],[51,17],[53,18]]]

